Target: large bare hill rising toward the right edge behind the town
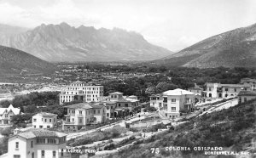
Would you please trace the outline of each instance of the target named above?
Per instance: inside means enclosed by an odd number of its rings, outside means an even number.
[[[256,67],[255,60],[256,24],[209,37],[154,63],[198,68]]]

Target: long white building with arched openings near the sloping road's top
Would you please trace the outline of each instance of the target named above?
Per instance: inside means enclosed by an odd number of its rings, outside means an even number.
[[[246,84],[207,83],[207,98],[227,99],[236,97],[241,90],[250,90]]]

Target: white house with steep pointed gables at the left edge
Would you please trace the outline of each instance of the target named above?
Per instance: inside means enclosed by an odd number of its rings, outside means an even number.
[[[0,108],[0,125],[11,125],[12,117],[20,114],[19,108],[14,108],[12,104],[8,108]]]

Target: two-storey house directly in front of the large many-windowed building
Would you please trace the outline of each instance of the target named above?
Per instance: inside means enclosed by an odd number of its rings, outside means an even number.
[[[102,123],[106,120],[106,109],[102,103],[79,103],[64,107],[65,121],[63,130],[78,130],[90,124]]]

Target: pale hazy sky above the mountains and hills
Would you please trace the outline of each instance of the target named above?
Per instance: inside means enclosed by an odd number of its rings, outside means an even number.
[[[256,0],[0,0],[0,23],[119,27],[177,51],[256,23]]]

